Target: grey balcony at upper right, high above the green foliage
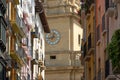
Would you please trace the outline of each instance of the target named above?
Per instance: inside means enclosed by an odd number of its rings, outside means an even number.
[[[106,2],[106,10],[107,10],[107,12],[106,12],[106,14],[107,14],[107,16],[109,16],[109,17],[113,17],[113,15],[114,15],[114,13],[115,13],[115,4],[112,2],[112,0],[106,0],[106,1],[108,1],[108,2]]]

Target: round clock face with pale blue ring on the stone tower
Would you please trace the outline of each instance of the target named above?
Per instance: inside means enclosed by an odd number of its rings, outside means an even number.
[[[60,41],[60,33],[52,29],[50,33],[46,34],[46,42],[50,45],[55,45]]]

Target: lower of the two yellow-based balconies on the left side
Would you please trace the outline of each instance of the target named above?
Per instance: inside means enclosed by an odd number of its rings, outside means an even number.
[[[10,56],[15,59],[21,66],[24,65],[25,52],[24,49],[18,44],[15,36],[11,37],[10,43]]]

